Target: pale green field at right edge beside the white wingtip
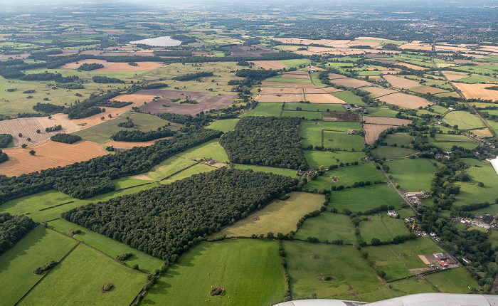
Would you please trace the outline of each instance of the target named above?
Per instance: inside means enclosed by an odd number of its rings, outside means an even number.
[[[465,170],[470,175],[470,181],[458,182],[460,185],[460,194],[457,195],[457,201],[455,201],[454,205],[460,206],[486,201],[494,203],[494,200],[498,198],[498,180],[497,172],[494,171],[492,165],[489,162],[479,162],[477,159],[461,160],[471,166]],[[478,186],[478,182],[484,183],[484,187]]]

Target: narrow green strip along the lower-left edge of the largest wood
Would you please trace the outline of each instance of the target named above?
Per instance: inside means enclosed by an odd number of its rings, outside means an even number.
[[[64,233],[70,229],[80,230],[81,232],[75,235],[74,238],[110,255],[112,258],[116,258],[116,256],[121,253],[132,253],[132,257],[126,260],[126,264],[130,267],[137,264],[141,271],[154,274],[154,270],[161,268],[161,265],[163,265],[163,261],[158,258],[154,258],[151,255],[130,248],[124,243],[112,240],[112,238],[108,238],[100,233],[95,233],[88,228],[78,226],[77,224],[70,223],[64,219],[51,221],[48,223],[48,226],[60,233]]]

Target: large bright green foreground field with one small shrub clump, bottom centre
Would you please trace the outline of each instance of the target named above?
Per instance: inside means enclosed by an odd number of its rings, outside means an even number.
[[[169,269],[143,304],[270,305],[285,294],[280,261],[275,241],[201,242]],[[212,297],[216,286],[223,293]]]

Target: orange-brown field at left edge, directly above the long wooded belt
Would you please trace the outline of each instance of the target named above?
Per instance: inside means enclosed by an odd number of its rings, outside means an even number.
[[[31,149],[36,151],[34,156],[28,153]],[[109,154],[99,144],[87,141],[75,144],[48,141],[29,146],[26,149],[3,150],[9,155],[9,160],[0,164],[0,174],[6,176],[18,176],[52,167],[66,166]]]

